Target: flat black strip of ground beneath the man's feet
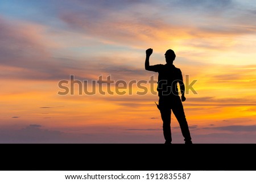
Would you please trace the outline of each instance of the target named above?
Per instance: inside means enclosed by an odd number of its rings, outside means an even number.
[[[1,144],[0,170],[254,171],[256,144]]]

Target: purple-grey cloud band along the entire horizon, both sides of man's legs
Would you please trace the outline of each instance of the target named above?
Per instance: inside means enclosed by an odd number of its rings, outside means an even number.
[[[255,125],[252,125],[255,129]],[[196,126],[193,126],[196,127]],[[249,127],[249,126],[248,126]],[[178,127],[177,127],[178,128]],[[115,132],[113,132],[113,129]],[[83,131],[84,130],[84,131]],[[92,132],[94,131],[94,132]],[[124,132],[125,131],[125,132]],[[149,132],[145,134],[145,132]],[[191,131],[194,143],[255,143],[255,133],[251,130],[229,133],[197,134]],[[174,131],[174,143],[183,143],[181,134]],[[0,143],[164,143],[162,128],[112,128],[102,133],[102,128],[81,128],[64,132],[46,129],[31,124],[22,129],[0,129]]]

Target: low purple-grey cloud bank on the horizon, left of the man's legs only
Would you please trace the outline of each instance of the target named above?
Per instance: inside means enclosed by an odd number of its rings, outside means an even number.
[[[92,132],[92,130],[94,132]],[[0,129],[0,143],[159,143],[160,137],[149,136],[126,130],[127,132],[99,132],[98,128],[88,128],[85,132],[61,132],[44,129],[41,125],[31,124],[22,129]],[[89,132],[90,131],[90,132]],[[121,131],[121,130],[120,130]],[[149,129],[148,131],[154,132]]]

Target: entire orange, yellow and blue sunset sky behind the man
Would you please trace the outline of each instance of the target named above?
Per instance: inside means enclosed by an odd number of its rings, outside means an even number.
[[[194,82],[193,143],[256,143],[255,19],[253,0],[0,0],[0,143],[164,143],[148,48],[151,65],[173,49]],[[88,91],[111,77],[114,94],[58,94],[71,75]],[[173,114],[171,126],[184,143]]]

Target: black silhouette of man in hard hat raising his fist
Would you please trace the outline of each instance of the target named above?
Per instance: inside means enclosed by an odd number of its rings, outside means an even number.
[[[177,121],[179,122],[181,133],[184,137],[185,144],[192,144],[188,123],[185,117],[183,104],[185,101],[185,86],[181,70],[173,65],[175,60],[175,53],[169,49],[164,56],[166,57],[166,64],[151,65],[149,63],[150,56],[153,49],[146,50],[145,69],[148,71],[158,72],[158,96],[159,104],[156,104],[160,110],[163,120],[163,135],[166,139],[165,144],[171,144],[171,111],[174,112]],[[177,83],[180,85],[181,99],[177,90]]]

